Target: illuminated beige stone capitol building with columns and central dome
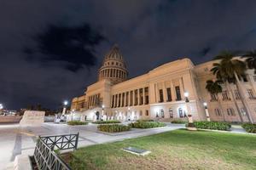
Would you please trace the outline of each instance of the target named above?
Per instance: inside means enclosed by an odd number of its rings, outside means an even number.
[[[188,58],[177,59],[129,79],[125,58],[114,45],[105,55],[98,81],[88,86],[83,95],[73,98],[71,110],[79,113],[82,121],[102,116],[120,121],[171,121],[192,115],[194,120],[207,120],[209,116],[211,121],[241,122],[236,100],[242,119],[247,122],[235,85],[226,88],[223,84],[220,94],[207,92],[207,80],[215,80],[210,71],[214,62],[218,61],[194,65]],[[247,70],[241,84],[246,92],[248,111],[256,122],[253,70]]]

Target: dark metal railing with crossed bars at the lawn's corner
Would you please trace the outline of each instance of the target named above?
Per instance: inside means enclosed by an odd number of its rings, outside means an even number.
[[[77,149],[78,140],[79,133],[44,137],[39,136],[34,151],[34,159],[37,162],[38,169],[71,170],[71,167],[62,161],[61,157],[55,153],[55,149]]]

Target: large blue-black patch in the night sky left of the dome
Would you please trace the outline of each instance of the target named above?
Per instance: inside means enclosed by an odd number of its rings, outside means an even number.
[[[64,61],[69,71],[96,65],[95,47],[105,38],[88,24],[82,26],[49,26],[36,35],[36,47],[26,47],[27,60]],[[39,53],[39,54],[38,54]]]

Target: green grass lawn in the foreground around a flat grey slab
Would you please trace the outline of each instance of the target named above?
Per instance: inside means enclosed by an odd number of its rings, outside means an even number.
[[[136,156],[121,150],[151,150]],[[256,169],[256,136],[176,130],[96,144],[64,155],[73,169]]]

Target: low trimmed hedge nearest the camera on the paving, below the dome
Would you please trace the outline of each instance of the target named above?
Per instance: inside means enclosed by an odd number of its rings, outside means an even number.
[[[97,128],[100,131],[108,132],[108,133],[118,133],[118,132],[128,131],[131,129],[130,126],[125,126],[125,125],[120,125],[120,124],[99,125]]]

